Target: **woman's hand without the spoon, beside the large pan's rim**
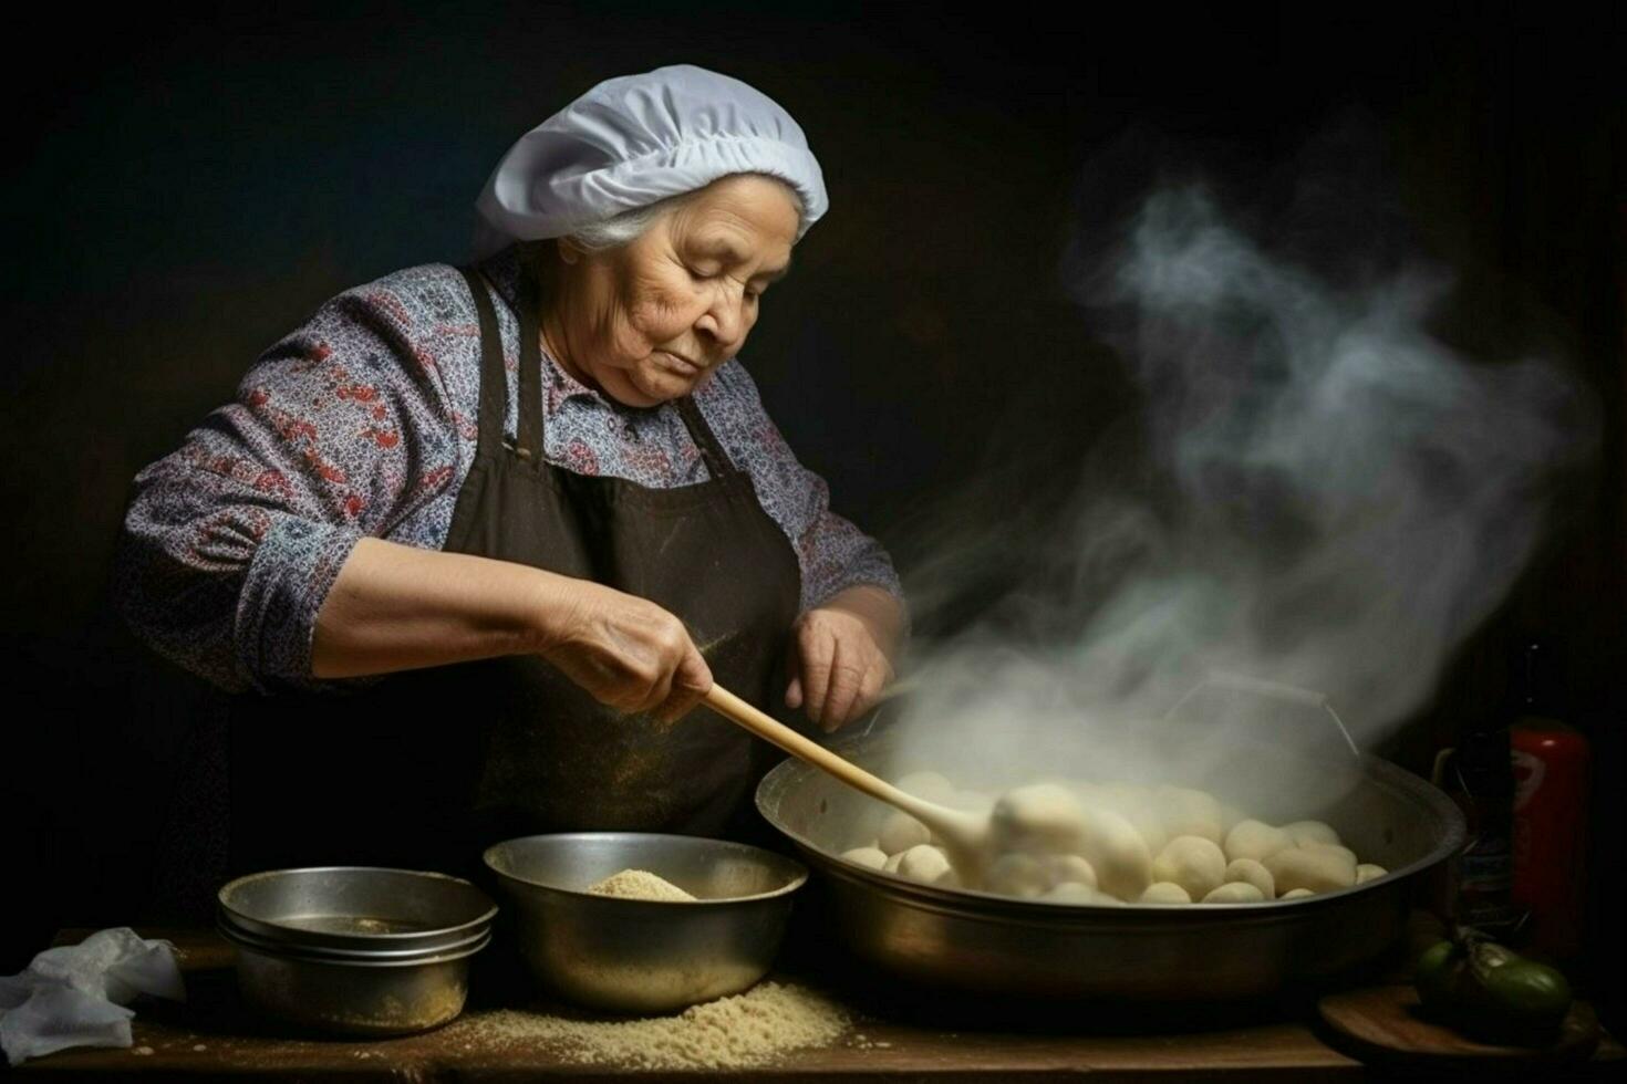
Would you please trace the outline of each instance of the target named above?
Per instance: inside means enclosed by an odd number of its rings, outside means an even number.
[[[827,733],[864,715],[893,679],[896,627],[898,603],[875,587],[848,588],[797,618],[786,707],[805,707]]]

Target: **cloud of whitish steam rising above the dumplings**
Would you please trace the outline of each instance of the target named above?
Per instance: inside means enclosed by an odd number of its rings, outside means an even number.
[[[1053,774],[1214,671],[1324,694],[1372,746],[1531,557],[1585,405],[1549,361],[1476,362],[1432,335],[1442,270],[1347,249],[1318,270],[1202,182],[1154,190],[1119,236],[1072,286],[1142,395],[1139,453],[1098,455],[1045,567],[919,660],[906,759]],[[1269,713],[1258,696],[1201,710]]]

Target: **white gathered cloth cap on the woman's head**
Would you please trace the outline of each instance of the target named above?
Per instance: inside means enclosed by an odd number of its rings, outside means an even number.
[[[830,206],[802,128],[761,91],[690,63],[605,80],[519,138],[475,202],[477,260],[760,172],[800,193],[797,239]]]

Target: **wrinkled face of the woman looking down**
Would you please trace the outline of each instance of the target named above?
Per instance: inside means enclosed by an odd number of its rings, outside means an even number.
[[[688,395],[735,356],[791,267],[797,210],[778,180],[735,174],[610,252],[566,241],[543,332],[573,375],[628,406]]]

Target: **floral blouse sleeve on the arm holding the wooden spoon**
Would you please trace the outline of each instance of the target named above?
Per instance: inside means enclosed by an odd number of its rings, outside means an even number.
[[[389,281],[324,304],[135,476],[116,566],[124,618],[228,691],[376,681],[311,676],[316,614],[356,541],[451,484],[457,455],[431,328],[413,327]]]

